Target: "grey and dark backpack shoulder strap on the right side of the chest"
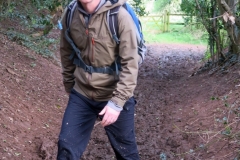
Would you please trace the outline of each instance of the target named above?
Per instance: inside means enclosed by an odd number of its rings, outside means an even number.
[[[114,7],[107,12],[107,24],[111,31],[112,38],[114,41],[119,44],[120,40],[118,38],[118,18],[117,14],[121,6]]]

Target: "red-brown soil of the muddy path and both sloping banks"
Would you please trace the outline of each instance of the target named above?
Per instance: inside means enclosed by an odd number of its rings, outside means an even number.
[[[54,160],[68,95],[59,53],[46,59],[0,35],[0,159]],[[240,144],[239,64],[228,72],[203,65],[206,48],[148,44],[135,97],[142,160],[229,160]],[[101,125],[83,160],[115,159]],[[238,159],[238,158],[237,158]]]

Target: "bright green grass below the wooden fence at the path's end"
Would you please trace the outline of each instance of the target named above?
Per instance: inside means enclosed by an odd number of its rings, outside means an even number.
[[[180,43],[207,45],[206,33],[200,29],[183,25],[170,25],[168,32],[162,32],[160,25],[145,23],[143,34],[147,43]]]

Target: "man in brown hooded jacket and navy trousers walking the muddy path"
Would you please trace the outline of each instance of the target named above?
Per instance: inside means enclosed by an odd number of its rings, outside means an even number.
[[[114,4],[107,0],[78,1],[70,24],[70,37],[81,51],[84,63],[91,67],[75,65],[69,59],[73,47],[67,41],[66,24],[63,23],[60,54],[69,102],[59,135],[58,160],[80,159],[98,117],[102,119],[116,158],[139,159],[134,131],[136,101],[133,98],[139,61],[135,24],[121,7],[118,13],[120,43],[116,44],[106,20],[107,11],[125,1]],[[120,57],[119,71],[111,67],[117,57]],[[113,74],[90,72],[92,68],[112,68]]]

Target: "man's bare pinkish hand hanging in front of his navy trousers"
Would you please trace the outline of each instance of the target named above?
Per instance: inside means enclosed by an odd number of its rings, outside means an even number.
[[[99,115],[104,115],[102,119],[102,126],[108,126],[118,119],[120,112],[112,109],[111,107],[105,106]]]

